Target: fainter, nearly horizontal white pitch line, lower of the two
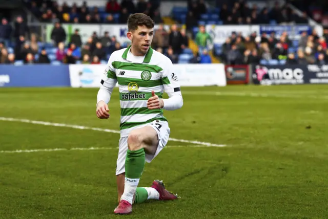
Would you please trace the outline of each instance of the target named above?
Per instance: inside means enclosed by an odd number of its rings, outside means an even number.
[[[165,146],[169,148],[181,147],[216,147],[207,145],[171,145]],[[118,147],[73,147],[73,148],[50,148],[50,149],[16,149],[16,150],[0,150],[0,154],[19,154],[19,153],[32,153],[32,152],[53,152],[53,151],[68,151],[68,150],[114,150]]]

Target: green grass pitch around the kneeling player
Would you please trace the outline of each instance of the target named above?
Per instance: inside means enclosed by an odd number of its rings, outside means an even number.
[[[328,85],[182,87],[165,111],[170,141],[140,186],[166,183],[181,198],[134,205],[131,218],[327,218]],[[97,89],[0,89],[0,117],[118,130],[95,115]],[[165,96],[167,97],[167,96]],[[119,134],[0,120],[0,218],[119,218]],[[176,147],[179,146],[179,147]],[[110,147],[8,153],[17,149]]]

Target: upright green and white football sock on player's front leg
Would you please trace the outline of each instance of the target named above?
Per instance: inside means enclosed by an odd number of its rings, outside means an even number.
[[[129,150],[125,160],[125,184],[124,193],[121,200],[128,201],[131,205],[133,203],[133,196],[136,192],[141,177],[142,171],[145,167],[145,150]]]

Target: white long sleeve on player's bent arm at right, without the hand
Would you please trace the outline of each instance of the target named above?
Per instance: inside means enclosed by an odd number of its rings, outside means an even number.
[[[169,99],[163,99],[164,106],[163,109],[175,110],[179,109],[183,105],[183,98],[181,94],[180,84],[178,82],[178,77],[173,71],[173,64],[170,59],[167,59],[165,69],[162,74],[162,83],[164,86],[164,91],[169,95]]]

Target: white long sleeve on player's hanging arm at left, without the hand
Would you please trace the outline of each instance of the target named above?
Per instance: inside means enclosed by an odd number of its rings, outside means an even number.
[[[112,65],[113,62],[113,54],[110,56],[106,69],[104,71],[104,76],[100,81],[100,88],[97,94],[97,104],[99,101],[103,100],[105,103],[109,103],[111,99],[111,94],[113,92],[113,88],[117,83],[117,78],[115,74],[115,69]]]

